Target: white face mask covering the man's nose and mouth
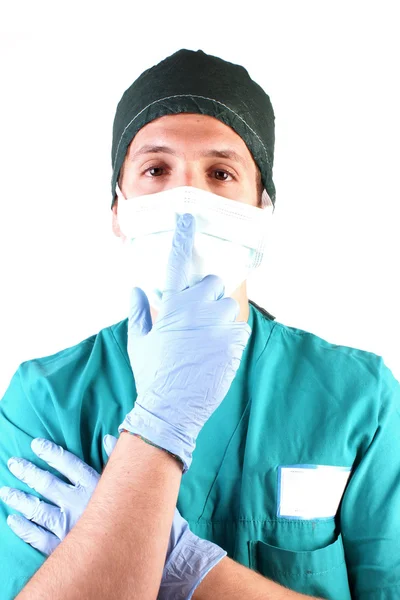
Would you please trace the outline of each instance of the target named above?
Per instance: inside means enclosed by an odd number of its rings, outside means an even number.
[[[118,185],[116,193],[118,222],[127,238],[129,283],[140,287],[157,311],[181,214],[190,213],[196,221],[189,285],[218,275],[230,296],[262,262],[272,203],[257,208],[189,186],[127,200]]]

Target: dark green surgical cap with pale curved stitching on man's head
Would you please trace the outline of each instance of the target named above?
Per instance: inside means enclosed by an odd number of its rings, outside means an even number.
[[[118,103],[111,152],[113,202],[122,163],[137,132],[154,119],[178,113],[215,117],[240,135],[275,206],[275,116],[269,96],[244,67],[185,49],[144,71]]]

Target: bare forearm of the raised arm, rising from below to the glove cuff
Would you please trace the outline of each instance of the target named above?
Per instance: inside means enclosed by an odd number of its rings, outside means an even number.
[[[182,472],[123,433],[76,526],[18,600],[157,597]]]

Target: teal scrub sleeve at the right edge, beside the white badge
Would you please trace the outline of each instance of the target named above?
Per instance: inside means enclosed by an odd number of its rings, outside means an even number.
[[[400,384],[383,360],[375,435],[357,457],[341,507],[352,597],[400,598]]]

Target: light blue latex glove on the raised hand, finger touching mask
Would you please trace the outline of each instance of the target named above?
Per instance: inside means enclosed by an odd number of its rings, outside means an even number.
[[[120,431],[177,455],[185,472],[199,431],[231,386],[251,329],[235,322],[239,304],[223,298],[219,277],[208,275],[188,287],[195,220],[184,217],[188,224],[178,220],[153,327],[146,294],[132,290],[128,355],[138,396]]]

